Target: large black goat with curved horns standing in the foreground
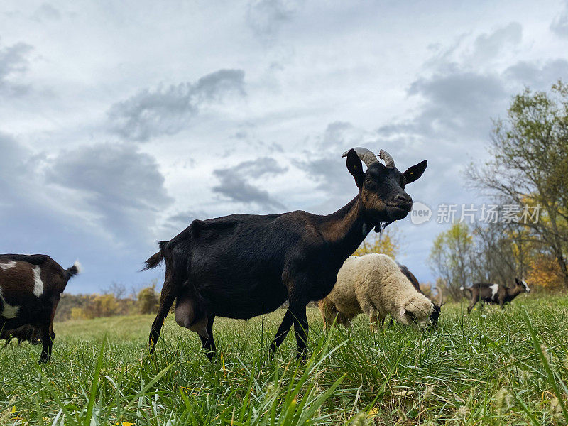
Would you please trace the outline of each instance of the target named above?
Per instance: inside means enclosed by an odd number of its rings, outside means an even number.
[[[275,351],[294,325],[297,356],[305,358],[307,303],[332,290],[337,271],[371,229],[378,231],[403,219],[412,208],[404,188],[420,178],[427,162],[400,173],[391,155],[383,150],[379,155],[385,165],[366,148],[343,154],[359,193],[327,216],[299,210],[232,214],[195,220],[171,241],[160,241],[160,251],[148,258],[144,268],[155,268],[165,260],[151,350],[174,300],[175,321],[200,335],[209,358],[217,350],[212,334],[215,317],[249,319],[288,300],[270,349]]]

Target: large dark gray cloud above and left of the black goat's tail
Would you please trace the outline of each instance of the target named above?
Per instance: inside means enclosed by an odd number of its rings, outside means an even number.
[[[124,144],[99,143],[62,152],[45,171],[48,183],[75,190],[102,229],[120,242],[148,239],[158,212],[173,200],[155,158]]]

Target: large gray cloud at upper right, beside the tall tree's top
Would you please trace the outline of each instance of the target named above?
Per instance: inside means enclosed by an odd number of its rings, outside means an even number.
[[[458,37],[436,61],[428,77],[419,77],[408,89],[409,96],[420,97],[423,104],[410,119],[395,121],[378,129],[380,136],[400,138],[460,138],[460,141],[486,141],[491,119],[505,113],[510,96],[523,84],[547,89],[552,82],[568,76],[568,62],[550,60],[545,65],[521,61],[504,72],[480,71],[476,64],[503,53],[508,45],[520,43],[522,26],[509,23],[493,33],[479,35],[473,55],[462,62],[452,59],[463,38]],[[451,53],[449,53],[451,51]],[[410,140],[412,142],[412,140]]]

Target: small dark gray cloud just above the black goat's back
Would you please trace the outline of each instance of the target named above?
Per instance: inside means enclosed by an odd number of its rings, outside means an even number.
[[[284,204],[275,200],[266,190],[252,185],[249,180],[263,176],[274,176],[285,173],[287,168],[281,168],[273,158],[257,158],[244,161],[230,168],[217,169],[213,174],[219,178],[219,185],[213,187],[213,192],[234,202],[258,204],[268,209],[285,209]]]

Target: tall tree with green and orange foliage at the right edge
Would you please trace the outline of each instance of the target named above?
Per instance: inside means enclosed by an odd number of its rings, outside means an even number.
[[[523,226],[554,258],[568,289],[568,85],[515,96],[507,118],[494,121],[490,152],[484,167],[468,169],[471,185],[519,207],[541,207],[540,219]]]

